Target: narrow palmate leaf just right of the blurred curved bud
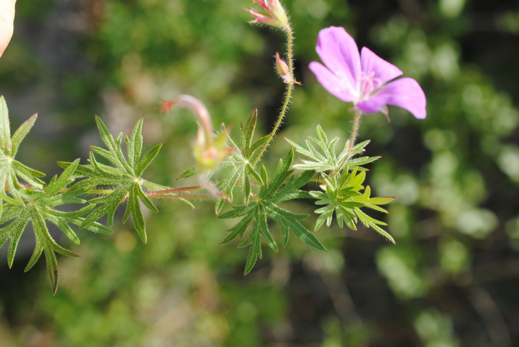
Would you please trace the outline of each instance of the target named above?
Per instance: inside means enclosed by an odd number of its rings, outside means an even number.
[[[254,109],[247,123],[240,124],[240,146],[228,136],[228,144],[234,151],[220,164],[219,169],[230,167],[230,171],[216,185],[224,195],[233,200],[233,190],[238,183],[241,183],[243,204],[245,205],[250,200],[251,183],[264,184],[261,176],[258,175],[253,167],[253,163],[256,162],[258,155],[260,155],[261,147],[268,141],[268,136],[264,136],[254,143],[252,142],[256,122],[257,109]],[[225,131],[225,129],[222,129],[222,131]],[[220,213],[225,202],[225,199],[220,199],[216,202],[214,208],[216,214]]]

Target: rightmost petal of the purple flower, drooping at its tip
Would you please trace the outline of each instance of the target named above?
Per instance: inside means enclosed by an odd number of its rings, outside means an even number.
[[[363,113],[375,113],[385,105],[402,107],[418,119],[427,115],[424,91],[416,80],[408,77],[390,82],[370,99],[358,103],[357,107]]]

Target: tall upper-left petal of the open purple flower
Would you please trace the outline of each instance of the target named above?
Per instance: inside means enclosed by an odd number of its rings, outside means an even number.
[[[324,65],[344,80],[351,92],[358,90],[361,68],[359,48],[343,27],[330,26],[319,31],[316,51]]]

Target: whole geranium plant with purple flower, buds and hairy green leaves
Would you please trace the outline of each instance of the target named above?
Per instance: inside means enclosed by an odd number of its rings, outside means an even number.
[[[14,1],[4,12],[0,24],[12,23]],[[6,6],[7,6],[6,5]],[[374,229],[389,241],[394,239],[383,227],[384,221],[368,214],[393,200],[391,197],[372,197],[365,185],[365,165],[379,157],[362,156],[369,141],[357,143],[357,133],[363,114],[382,112],[388,115],[388,105],[407,109],[416,118],[425,118],[426,99],[418,83],[411,78],[400,78],[398,67],[381,59],[367,48],[361,53],[353,38],[342,27],[329,27],[319,33],[317,53],[324,65],[312,62],[310,70],[320,84],[342,101],[353,103],[355,116],[350,136],[338,147],[338,138],[330,139],[317,125],[316,136],[309,136],[304,145],[286,139],[291,145],[275,168],[267,168],[264,156],[275,140],[279,127],[292,102],[292,91],[300,85],[294,77],[293,30],[286,11],[278,0],[257,0],[247,9],[259,23],[281,30],[286,35],[286,54],[274,55],[276,70],[286,86],[284,101],[272,130],[256,134],[257,109],[240,125],[239,137],[233,138],[225,126],[215,131],[207,107],[190,95],[162,103],[164,112],[174,112],[180,106],[188,107],[197,116],[199,128],[193,145],[196,165],[186,168],[180,178],[198,177],[193,187],[167,187],[149,181],[143,176],[157,156],[162,144],[143,148],[143,120],[131,133],[112,135],[100,117],[95,117],[104,147],[92,146],[87,161],[58,162],[64,169],[50,181],[44,173],[31,169],[16,159],[23,138],[36,122],[34,115],[11,134],[6,101],[0,98],[0,246],[9,242],[8,265],[12,266],[22,233],[32,229],[36,239],[33,255],[25,270],[29,270],[45,255],[52,290],[58,286],[56,253],[77,256],[60,246],[51,236],[48,225],[57,226],[67,238],[79,244],[74,228],[96,233],[112,233],[116,211],[125,210],[123,222],[130,217],[143,242],[147,241],[145,220],[141,206],[158,213],[153,200],[181,200],[192,204],[193,199],[215,201],[218,218],[237,219],[236,225],[223,236],[223,243],[242,239],[238,247],[249,247],[244,273],[249,273],[262,257],[262,244],[278,251],[268,220],[274,220],[281,231],[281,245],[285,247],[293,233],[302,242],[319,251],[325,247],[316,237],[324,224],[330,226],[335,218],[340,227],[356,230],[360,222]],[[0,37],[0,54],[12,33],[4,31]],[[394,80],[395,79],[395,80]],[[349,106],[347,106],[349,107]],[[252,108],[252,107],[251,107]],[[295,154],[301,156],[294,161]],[[223,178],[219,173],[226,173]],[[309,183],[317,183],[318,190],[305,190]],[[315,185],[314,185],[315,187]],[[313,199],[315,226],[305,219],[309,216],[287,210],[284,202]],[[232,203],[232,206],[228,206]],[[76,208],[64,212],[63,205]],[[67,209],[70,211],[70,208]],[[107,216],[107,225],[99,220]]]

